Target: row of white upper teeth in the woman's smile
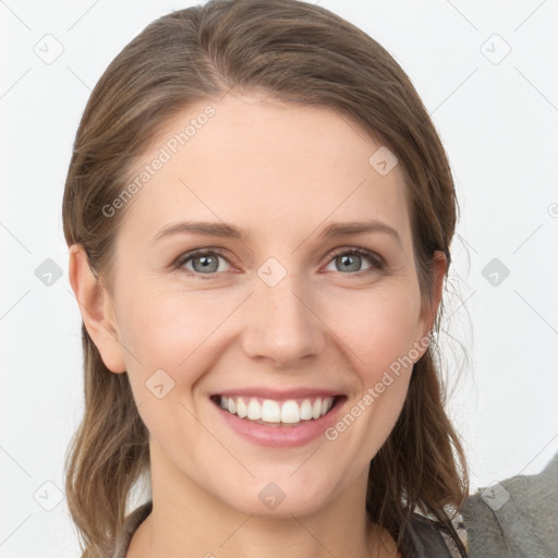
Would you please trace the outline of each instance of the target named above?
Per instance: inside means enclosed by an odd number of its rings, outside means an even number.
[[[333,407],[333,398],[318,397],[313,403],[310,399],[304,399],[301,403],[294,399],[289,399],[281,404],[272,399],[264,399],[260,403],[256,398],[221,396],[219,405],[225,411],[248,421],[296,424],[301,421],[311,421],[324,416]]]

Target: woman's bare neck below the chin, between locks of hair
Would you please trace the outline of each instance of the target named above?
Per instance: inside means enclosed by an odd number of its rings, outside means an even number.
[[[126,558],[398,556],[395,541],[367,518],[366,475],[314,512],[264,517],[235,510],[175,471],[158,473],[151,469],[153,511]]]

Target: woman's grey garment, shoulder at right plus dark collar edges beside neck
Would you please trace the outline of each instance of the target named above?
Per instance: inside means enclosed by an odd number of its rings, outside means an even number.
[[[111,558],[125,558],[132,535],[150,511],[148,501],[130,514]],[[501,481],[484,497],[481,488],[466,498],[461,514],[470,558],[558,558],[558,453],[537,475]],[[451,558],[427,520],[414,513],[411,524],[414,553],[404,558]]]

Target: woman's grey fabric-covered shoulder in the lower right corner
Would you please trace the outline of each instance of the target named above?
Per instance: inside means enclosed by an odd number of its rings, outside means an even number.
[[[461,510],[471,558],[558,556],[558,453],[541,473],[470,496]]]

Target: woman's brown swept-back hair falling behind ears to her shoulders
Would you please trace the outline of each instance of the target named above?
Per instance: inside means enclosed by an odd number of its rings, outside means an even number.
[[[404,171],[424,308],[433,299],[433,255],[454,233],[458,203],[444,147],[409,77],[357,27],[298,0],[211,0],[148,25],[111,62],[77,130],[63,198],[64,235],[84,246],[110,287],[124,209],[107,218],[134,161],[168,120],[232,87],[329,107],[396,154]],[[372,154],[371,154],[372,155]],[[441,303],[435,319],[439,331]],[[122,530],[132,488],[149,468],[148,436],[126,374],[104,364],[82,325],[85,414],[66,458],[66,496],[83,558],[106,557]],[[465,549],[451,525],[469,493],[465,457],[444,409],[437,351],[414,365],[399,420],[371,462],[366,508],[401,550],[413,511]],[[378,482],[379,480],[379,482]]]

